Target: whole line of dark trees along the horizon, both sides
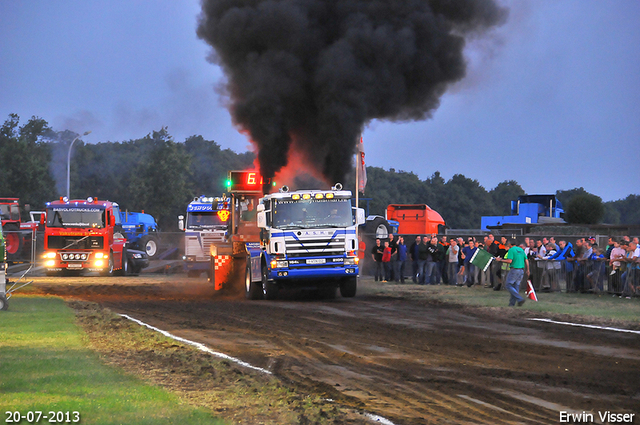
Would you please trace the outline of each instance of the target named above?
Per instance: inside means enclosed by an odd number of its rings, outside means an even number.
[[[66,194],[69,145],[78,136],[56,132],[32,117],[24,125],[11,114],[0,129],[0,197],[20,198],[32,210]],[[153,215],[161,229],[175,230],[177,216],[195,196],[224,192],[228,170],[253,166],[255,155],[222,149],[212,140],[191,136],[173,140],[166,128],[124,142],[87,144],[72,148],[71,198],[109,199],[123,210]],[[345,188],[355,185],[353,173]],[[511,201],[525,194],[515,181],[486,190],[477,180],[456,174],[448,181],[435,172],[420,180],[411,172],[367,167],[367,187],[360,206],[384,215],[388,204],[427,204],[450,228],[477,229],[483,215],[510,215]],[[640,197],[602,202],[583,188],[557,191],[565,219],[581,224],[640,224]]]

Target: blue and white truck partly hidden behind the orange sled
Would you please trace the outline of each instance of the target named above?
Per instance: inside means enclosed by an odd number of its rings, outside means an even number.
[[[229,200],[199,196],[187,205],[187,216],[178,217],[178,228],[184,230],[184,269],[189,277],[209,270],[210,246],[226,241]]]

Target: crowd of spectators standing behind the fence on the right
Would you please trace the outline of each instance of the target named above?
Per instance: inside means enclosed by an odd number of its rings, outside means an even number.
[[[524,250],[529,265],[523,281],[532,280],[536,290],[640,296],[638,237],[610,237],[603,247],[592,237],[573,242],[525,237],[517,245]],[[420,285],[482,285],[500,290],[509,269],[508,261],[503,260],[509,246],[506,237],[496,240],[493,234],[481,240],[418,235],[409,246],[402,236],[390,234],[384,242],[377,239],[371,250],[376,265],[374,278],[404,283],[410,273],[413,283]],[[497,261],[480,269],[471,262],[479,249]]]

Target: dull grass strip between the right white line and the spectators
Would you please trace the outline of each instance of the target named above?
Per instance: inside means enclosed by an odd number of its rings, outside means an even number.
[[[508,307],[509,294],[506,290],[494,291],[490,288],[450,285],[414,285],[374,282],[365,278],[359,287],[360,293],[414,300],[500,310],[525,317],[555,317],[580,322],[618,323],[622,326],[640,329],[640,298],[626,299],[609,294],[543,293],[538,301],[527,299],[522,307]]]

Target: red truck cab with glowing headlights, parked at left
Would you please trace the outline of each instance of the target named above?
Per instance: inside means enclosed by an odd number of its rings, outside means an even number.
[[[65,197],[47,203],[44,266],[48,275],[71,271],[126,274],[126,242],[115,202]]]

